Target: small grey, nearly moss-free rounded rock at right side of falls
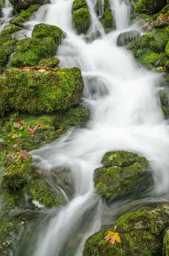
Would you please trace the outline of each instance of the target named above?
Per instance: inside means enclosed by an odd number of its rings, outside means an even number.
[[[140,33],[136,30],[120,33],[120,35],[117,36],[117,45],[118,46],[128,45],[134,42],[139,37],[140,37]]]

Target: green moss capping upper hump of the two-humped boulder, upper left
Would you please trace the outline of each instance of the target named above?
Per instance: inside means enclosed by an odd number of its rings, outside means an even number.
[[[57,26],[40,23],[34,26],[32,37],[38,39],[52,38],[58,47],[62,41],[63,32],[62,29],[58,28]]]

